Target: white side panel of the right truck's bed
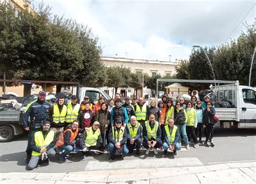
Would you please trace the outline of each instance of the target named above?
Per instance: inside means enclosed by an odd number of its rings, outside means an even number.
[[[237,121],[237,108],[215,108],[219,120],[235,120]]]

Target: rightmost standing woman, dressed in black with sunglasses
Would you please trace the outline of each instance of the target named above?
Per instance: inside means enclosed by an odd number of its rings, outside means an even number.
[[[210,139],[211,133],[214,128],[213,117],[215,115],[215,108],[212,107],[211,101],[207,101],[206,106],[207,108],[204,110],[204,113],[203,113],[203,125],[206,128],[206,139],[205,139],[204,145],[205,147],[209,147],[207,142]],[[214,144],[212,142],[211,142],[211,146],[214,147]]]

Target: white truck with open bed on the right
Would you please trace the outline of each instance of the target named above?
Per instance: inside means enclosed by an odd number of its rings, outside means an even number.
[[[217,99],[231,101],[233,108],[215,108],[219,118],[216,126],[223,128],[256,128],[256,92],[255,88],[239,85],[239,81],[227,80],[186,80],[186,79],[157,79],[159,82],[177,83],[212,83],[226,85],[211,85]],[[158,97],[160,98],[160,97]]]

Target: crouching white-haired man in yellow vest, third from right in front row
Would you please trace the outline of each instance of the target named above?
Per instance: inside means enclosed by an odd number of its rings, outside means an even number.
[[[127,124],[126,131],[128,134],[127,147],[129,149],[129,153],[132,153],[133,149],[136,147],[136,154],[139,155],[139,148],[142,144],[142,139],[140,138],[142,125],[140,125],[134,115],[131,116],[131,122]]]

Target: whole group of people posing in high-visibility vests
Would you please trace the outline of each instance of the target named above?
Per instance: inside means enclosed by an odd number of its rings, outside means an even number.
[[[212,139],[215,110],[208,96],[203,103],[196,96],[186,104],[179,98],[175,105],[171,98],[163,96],[158,104],[152,100],[149,106],[143,98],[132,99],[131,104],[129,97],[122,101],[119,93],[109,103],[100,97],[97,104],[92,104],[87,96],[78,104],[77,97],[72,96],[67,105],[64,97],[51,105],[45,97],[46,92],[40,91],[24,113],[23,127],[29,131],[28,169],[35,168],[39,159],[49,162],[53,155],[59,154],[60,161],[65,162],[71,151],[81,152],[84,159],[86,152],[104,153],[106,147],[110,160],[116,155],[133,153],[134,149],[139,155],[141,144],[146,148],[145,154],[151,150],[158,154],[160,148],[164,154],[169,149],[176,155],[181,139],[186,149],[190,149],[190,137],[194,148],[199,147],[196,133],[201,142],[203,127],[204,145],[209,147],[207,142]]]

